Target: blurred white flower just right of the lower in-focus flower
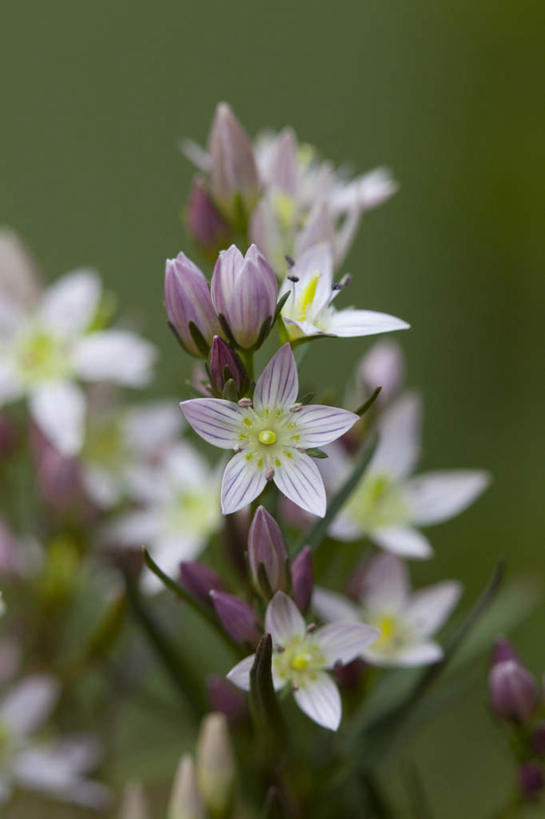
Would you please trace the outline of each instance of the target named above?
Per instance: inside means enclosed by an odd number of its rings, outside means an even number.
[[[357,603],[327,589],[316,589],[312,607],[329,622],[371,623],[380,631],[361,656],[372,665],[418,666],[443,656],[431,639],[449,617],[460,584],[438,583],[411,593],[407,569],[394,555],[379,555],[363,576]]]

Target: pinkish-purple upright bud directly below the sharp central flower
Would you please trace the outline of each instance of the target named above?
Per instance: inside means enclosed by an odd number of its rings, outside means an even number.
[[[279,525],[267,510],[260,506],[248,533],[248,561],[252,580],[262,594],[268,596],[269,593],[274,594],[286,588],[287,559],[288,553]],[[260,566],[263,567],[261,572],[265,573],[265,588],[260,583]]]

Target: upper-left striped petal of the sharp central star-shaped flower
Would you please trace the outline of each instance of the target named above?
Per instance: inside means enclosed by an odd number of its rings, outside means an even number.
[[[192,398],[180,404],[197,435],[212,446],[234,449],[240,443],[244,414],[232,401],[221,398]]]

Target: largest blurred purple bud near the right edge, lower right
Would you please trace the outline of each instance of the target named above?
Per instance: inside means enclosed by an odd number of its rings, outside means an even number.
[[[504,719],[527,722],[538,703],[534,677],[516,660],[496,663],[489,675],[492,707]]]

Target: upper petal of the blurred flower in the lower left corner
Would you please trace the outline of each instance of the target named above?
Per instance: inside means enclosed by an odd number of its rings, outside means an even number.
[[[18,736],[31,734],[48,718],[59,694],[60,686],[54,677],[26,677],[4,698],[0,720]]]

